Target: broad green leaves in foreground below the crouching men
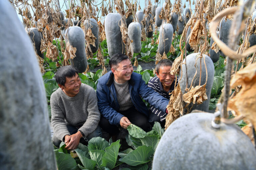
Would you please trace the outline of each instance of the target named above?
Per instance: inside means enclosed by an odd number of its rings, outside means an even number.
[[[126,163],[130,165],[130,170],[147,170],[164,130],[158,122],[148,133],[132,124],[129,127],[127,142],[134,149],[128,148],[121,152],[120,140],[110,144],[101,137],[94,137],[88,142],[88,147],[79,143],[75,149],[78,158],[74,159],[66,150],[65,143],[61,142],[60,148],[55,150],[58,169],[111,170]]]

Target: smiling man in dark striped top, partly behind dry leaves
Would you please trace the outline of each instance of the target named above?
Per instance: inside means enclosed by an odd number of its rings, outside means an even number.
[[[171,67],[171,60],[163,59],[159,61],[156,65],[157,77],[151,78],[148,82],[148,87],[152,88],[166,99],[170,99],[170,93],[174,90],[175,85],[175,75],[170,74]],[[150,123],[154,124],[154,122],[159,122],[161,126],[164,127],[166,115],[167,114],[165,112],[162,112],[150,105]]]

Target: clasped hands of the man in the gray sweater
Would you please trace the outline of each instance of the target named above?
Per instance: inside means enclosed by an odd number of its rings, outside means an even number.
[[[65,136],[65,144],[66,144],[66,149],[68,150],[74,150],[79,144],[80,138],[83,137],[80,131],[76,132],[75,134],[72,135],[66,135]]]

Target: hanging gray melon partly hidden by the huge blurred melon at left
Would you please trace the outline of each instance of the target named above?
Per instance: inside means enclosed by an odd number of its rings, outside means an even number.
[[[35,43],[36,53],[41,58],[44,58],[44,54],[41,53],[41,51],[40,51],[41,40],[42,40],[41,33],[37,30],[37,28],[30,28],[30,29],[28,29],[28,31],[29,31],[29,37],[30,37],[31,41],[33,43]]]

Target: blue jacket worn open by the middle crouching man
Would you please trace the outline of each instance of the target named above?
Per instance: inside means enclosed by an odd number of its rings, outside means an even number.
[[[111,125],[119,125],[123,115],[118,113],[120,107],[113,82],[114,74],[109,71],[98,79],[96,94],[100,113],[109,120]],[[133,72],[128,82],[132,103],[139,112],[146,116],[149,115],[149,110],[141,98],[158,110],[165,112],[169,100],[149,88],[141,74]]]

